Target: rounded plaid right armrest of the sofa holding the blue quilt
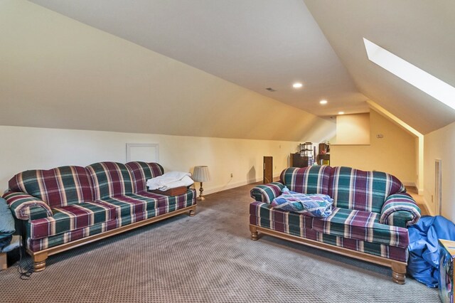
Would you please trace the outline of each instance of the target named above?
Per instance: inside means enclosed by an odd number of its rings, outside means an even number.
[[[395,193],[385,199],[379,222],[387,225],[407,227],[420,218],[420,208],[408,193]]]

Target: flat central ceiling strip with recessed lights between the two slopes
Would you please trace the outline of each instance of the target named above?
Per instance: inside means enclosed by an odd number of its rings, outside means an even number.
[[[314,115],[368,112],[301,0],[31,1]]]

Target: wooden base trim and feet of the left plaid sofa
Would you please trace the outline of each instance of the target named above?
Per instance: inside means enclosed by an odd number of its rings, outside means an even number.
[[[53,248],[48,248],[45,250],[40,250],[39,252],[33,252],[27,248],[27,252],[33,258],[33,269],[35,272],[41,272],[45,270],[45,260],[50,255],[55,255],[58,252],[63,252],[65,250],[70,250],[71,248],[77,248],[78,246],[85,245],[87,243],[92,243],[97,240],[101,240],[112,235],[117,235],[119,233],[124,233],[125,231],[132,230],[134,228],[139,228],[150,223],[154,223],[166,218],[171,218],[173,216],[180,215],[181,213],[186,213],[189,211],[189,216],[193,217],[196,214],[196,204],[193,206],[188,206],[186,208],[178,209],[177,211],[172,211],[171,213],[164,213],[163,215],[149,218],[146,220],[141,220],[138,222],[131,223],[129,225],[124,225],[113,230],[107,230],[104,233],[98,233],[97,235],[90,235],[88,237],[75,240],[69,243],[62,245],[54,246]]]

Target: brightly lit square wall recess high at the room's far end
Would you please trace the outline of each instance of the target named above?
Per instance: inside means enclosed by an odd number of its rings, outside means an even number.
[[[370,144],[370,114],[338,115],[335,144]]]

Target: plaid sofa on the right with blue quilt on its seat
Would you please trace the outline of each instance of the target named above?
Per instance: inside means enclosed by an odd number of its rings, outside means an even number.
[[[282,188],[322,193],[333,198],[327,218],[272,208]],[[309,166],[285,169],[279,182],[252,188],[250,231],[337,252],[392,267],[392,279],[405,283],[407,226],[417,222],[420,209],[395,176],[350,167]]]

